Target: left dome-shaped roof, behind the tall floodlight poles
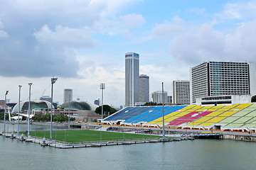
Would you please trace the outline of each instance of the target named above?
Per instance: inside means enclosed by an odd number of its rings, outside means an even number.
[[[29,101],[22,101],[21,106],[20,106],[20,112],[22,111],[28,111],[28,102]],[[42,109],[49,109],[51,103],[48,101],[31,101],[31,110],[37,109],[37,110],[42,110]],[[16,106],[14,106],[14,109],[11,111],[11,113],[18,113],[18,103]]]

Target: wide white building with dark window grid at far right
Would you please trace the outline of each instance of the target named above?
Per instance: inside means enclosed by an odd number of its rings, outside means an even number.
[[[254,63],[204,62],[191,68],[191,104],[204,96],[255,94]]]

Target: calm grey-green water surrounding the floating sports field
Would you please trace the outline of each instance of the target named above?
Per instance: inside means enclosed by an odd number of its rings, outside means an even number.
[[[0,169],[256,169],[255,151],[231,140],[55,149],[0,136]]]

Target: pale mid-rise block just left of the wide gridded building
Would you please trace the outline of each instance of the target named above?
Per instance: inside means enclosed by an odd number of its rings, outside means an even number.
[[[173,81],[172,85],[172,103],[190,104],[190,81]]]

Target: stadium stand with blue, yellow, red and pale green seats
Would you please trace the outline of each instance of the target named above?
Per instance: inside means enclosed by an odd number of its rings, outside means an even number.
[[[161,127],[162,106],[127,107],[110,115],[104,123]],[[170,128],[256,130],[256,103],[231,106],[164,106],[164,124]]]

